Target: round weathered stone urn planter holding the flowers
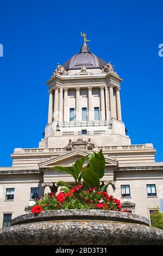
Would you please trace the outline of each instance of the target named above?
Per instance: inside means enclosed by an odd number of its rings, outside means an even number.
[[[0,230],[0,245],[163,245],[163,230],[126,212],[42,211],[12,220]]]

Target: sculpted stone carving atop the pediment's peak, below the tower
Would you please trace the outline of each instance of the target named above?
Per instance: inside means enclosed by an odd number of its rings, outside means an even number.
[[[83,141],[82,138],[78,138],[77,141],[73,141],[69,139],[69,143],[64,148],[66,151],[71,151],[73,149],[87,149],[92,150],[95,148],[95,144],[91,142],[91,139],[87,139],[87,141]]]

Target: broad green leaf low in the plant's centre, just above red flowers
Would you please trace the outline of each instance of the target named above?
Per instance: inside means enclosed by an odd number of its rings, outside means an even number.
[[[82,178],[88,186],[99,187],[99,178],[91,169],[82,169]]]

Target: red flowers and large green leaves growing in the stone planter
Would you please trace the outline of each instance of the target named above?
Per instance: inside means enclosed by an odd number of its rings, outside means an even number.
[[[87,166],[84,162],[89,159]],[[75,186],[65,181],[59,181],[60,191],[45,194],[35,205],[30,208],[34,214],[42,210],[58,209],[101,209],[122,211],[120,200],[109,196],[106,192],[108,184],[101,186],[100,179],[105,173],[105,158],[102,150],[89,157],[78,159],[72,167],[55,166],[55,170],[68,173],[73,176]],[[83,179],[83,183],[81,180]],[[128,212],[126,210],[126,212]]]

